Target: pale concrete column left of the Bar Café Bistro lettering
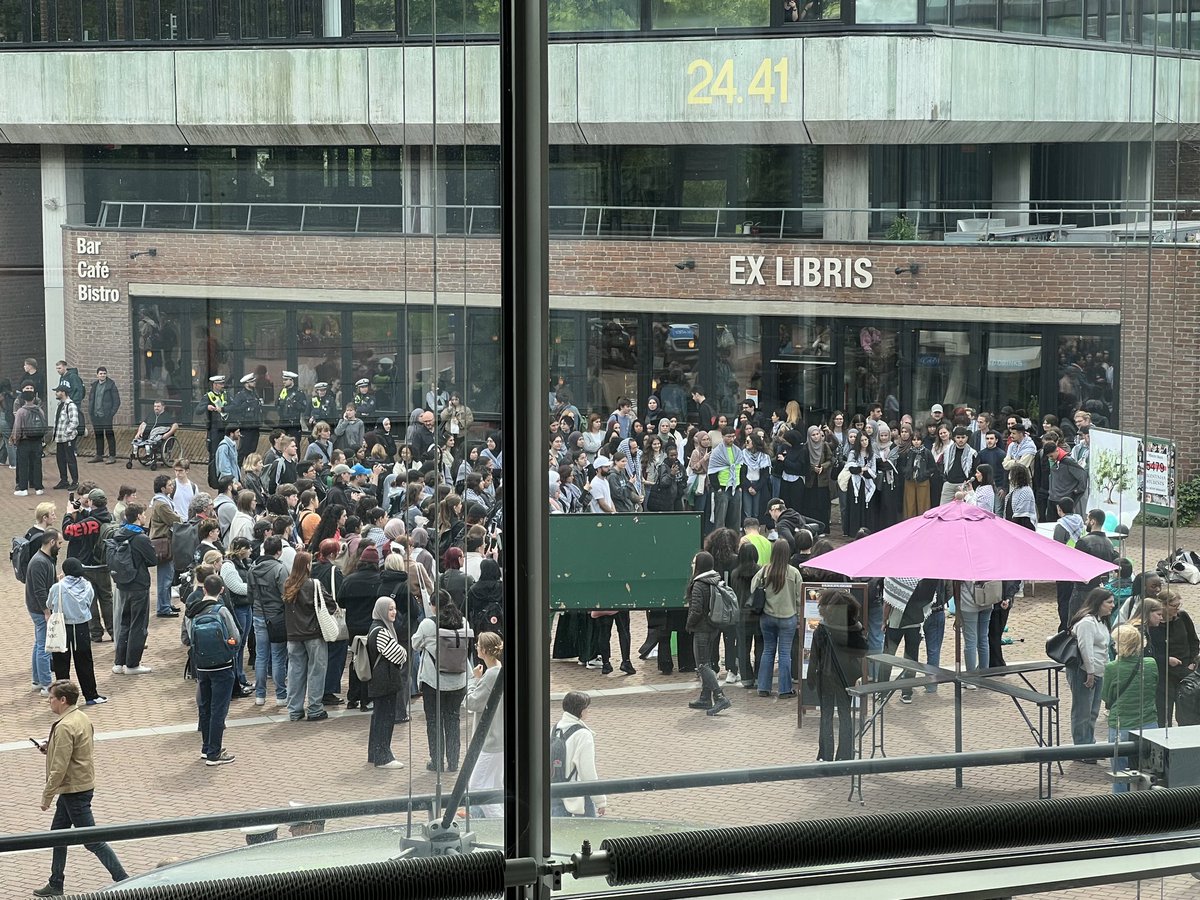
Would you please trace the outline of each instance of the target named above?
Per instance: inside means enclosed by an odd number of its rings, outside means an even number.
[[[42,290],[46,308],[46,360],[71,358],[66,344],[66,300],[62,295],[62,227],[82,224],[84,220],[83,172],[68,157],[66,148],[43,144],[42,148]]]

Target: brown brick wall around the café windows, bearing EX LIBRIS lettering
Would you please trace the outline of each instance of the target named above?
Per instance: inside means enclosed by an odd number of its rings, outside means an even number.
[[[107,260],[107,281],[118,304],[82,302],[74,265],[77,238],[102,242],[89,260]],[[68,354],[82,372],[106,362],[122,388],[130,383],[132,350],[128,282],[270,286],[305,289],[428,290],[433,282],[433,247],[426,238],[347,238],[320,235],[116,233],[67,230],[65,316]],[[157,257],[130,260],[132,251],[154,246]],[[439,239],[442,264],[437,286],[443,292],[499,290],[499,242],[492,239]],[[856,288],[793,288],[730,284],[731,254],[761,253],[811,257],[869,257],[874,284]],[[694,270],[676,263],[691,258]],[[407,260],[407,266],[406,266]],[[917,276],[894,275],[896,266],[920,266]],[[1192,347],[1200,328],[1200,247],[1156,248],[1150,271],[1148,426],[1174,437],[1187,470],[1200,460],[1200,436],[1192,426],[1200,406],[1200,362]],[[768,259],[768,266],[772,263]],[[773,274],[773,269],[772,269]],[[737,241],[599,241],[556,240],[551,244],[551,292],[575,296],[662,299],[814,299],[854,304],[907,304],[947,310],[1028,307],[1108,310],[1121,314],[1121,409],[1126,427],[1138,428],[1145,404],[1147,251],[1145,247],[1074,247],[1069,245],[822,245]],[[1184,421],[1188,427],[1180,428]]]

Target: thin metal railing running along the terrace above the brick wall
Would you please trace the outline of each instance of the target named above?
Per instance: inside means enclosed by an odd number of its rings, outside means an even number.
[[[1157,242],[1200,239],[1200,200],[1028,200],[937,206],[614,206],[550,208],[551,232],[641,240],[820,238],[827,218],[840,233],[872,240],[949,242],[1063,240]],[[865,222],[864,222],[865,220]],[[97,228],[335,234],[497,236],[494,204],[354,204],[103,200]],[[1153,222],[1153,226],[1148,226]],[[1090,230],[1091,229],[1091,230]],[[1099,230],[1108,229],[1108,230]],[[1072,232],[1079,232],[1072,235]],[[1194,236],[1193,236],[1194,235]]]

